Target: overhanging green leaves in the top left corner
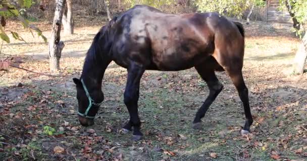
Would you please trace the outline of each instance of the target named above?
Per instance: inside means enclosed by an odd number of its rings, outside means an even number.
[[[37,35],[41,37],[46,43],[47,39],[42,35],[41,31],[37,27],[29,25],[29,21],[26,20],[20,13],[20,11],[24,11],[25,8],[30,8],[33,4],[34,2],[32,0],[18,0],[18,1],[0,0],[0,17],[3,17],[3,19],[9,17],[17,18],[24,28],[29,29],[29,32],[31,33],[32,30],[34,30],[37,33]],[[6,34],[4,27],[5,25],[3,24],[0,25],[0,30],[1,30],[0,38],[6,41],[7,43],[10,43],[10,38]],[[13,38],[24,41],[24,39],[22,39],[16,32],[11,31],[11,33]]]

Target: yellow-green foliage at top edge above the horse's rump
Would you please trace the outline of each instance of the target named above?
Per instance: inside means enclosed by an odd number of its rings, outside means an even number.
[[[199,12],[218,12],[225,16],[241,18],[245,10],[251,6],[264,7],[262,0],[194,0]]]

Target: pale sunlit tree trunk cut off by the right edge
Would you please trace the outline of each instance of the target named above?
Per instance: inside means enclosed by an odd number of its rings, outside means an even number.
[[[299,48],[294,58],[294,72],[302,74],[304,72],[304,66],[307,58],[307,31],[299,45]]]

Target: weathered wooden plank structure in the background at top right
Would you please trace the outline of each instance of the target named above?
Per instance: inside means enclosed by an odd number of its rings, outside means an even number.
[[[279,10],[279,0],[267,0],[266,5],[266,22],[267,23],[281,23],[292,25],[293,21],[286,6],[283,11]]]

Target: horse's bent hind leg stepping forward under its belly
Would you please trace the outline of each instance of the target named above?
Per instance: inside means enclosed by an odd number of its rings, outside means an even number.
[[[195,66],[196,71],[199,73],[201,78],[206,81],[209,87],[209,96],[206,98],[204,103],[198,109],[196,116],[193,121],[193,128],[194,129],[201,129],[201,118],[204,117],[206,112],[208,111],[211,104],[223,90],[223,85],[219,82],[214,68],[207,68],[208,64],[201,63]],[[212,67],[212,66],[211,66]]]

